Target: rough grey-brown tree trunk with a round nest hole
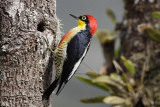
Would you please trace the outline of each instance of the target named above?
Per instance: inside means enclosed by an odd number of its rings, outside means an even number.
[[[55,0],[0,0],[0,106],[48,107],[56,46]]]

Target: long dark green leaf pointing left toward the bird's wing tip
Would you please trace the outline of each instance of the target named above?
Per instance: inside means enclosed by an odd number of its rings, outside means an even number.
[[[79,80],[81,80],[84,83],[90,84],[92,86],[98,87],[100,89],[103,89],[109,93],[113,93],[113,91],[104,83],[93,83],[91,79],[82,77],[82,76],[76,76]]]

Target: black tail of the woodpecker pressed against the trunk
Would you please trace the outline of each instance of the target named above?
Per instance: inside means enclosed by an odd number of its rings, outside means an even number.
[[[42,100],[48,100],[53,90],[57,87],[58,79],[54,80],[49,88],[43,93]]]

